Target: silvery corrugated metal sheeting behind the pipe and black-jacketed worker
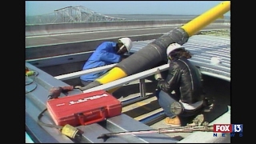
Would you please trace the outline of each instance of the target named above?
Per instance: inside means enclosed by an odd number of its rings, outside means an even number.
[[[134,42],[130,53],[141,50],[153,41]],[[190,62],[198,66],[202,74],[230,81],[230,37],[199,34],[190,37],[183,46],[193,54]],[[213,64],[213,57],[221,58],[220,63]]]

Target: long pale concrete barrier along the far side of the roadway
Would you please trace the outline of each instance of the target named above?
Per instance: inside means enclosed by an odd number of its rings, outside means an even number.
[[[46,25],[26,25],[26,37],[52,34],[71,34],[99,30],[126,30],[134,28],[150,28],[182,25],[190,20],[155,20],[155,21],[123,21],[123,22],[82,22],[58,23]],[[218,19],[214,23],[224,23],[226,20]]]

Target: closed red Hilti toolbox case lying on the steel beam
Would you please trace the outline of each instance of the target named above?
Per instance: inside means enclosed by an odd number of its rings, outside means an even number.
[[[90,125],[122,113],[121,102],[105,90],[50,99],[46,106],[58,126]]]

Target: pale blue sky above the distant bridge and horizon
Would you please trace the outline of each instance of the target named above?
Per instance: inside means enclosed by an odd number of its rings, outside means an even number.
[[[99,14],[198,15],[224,1],[26,1],[26,16],[54,13],[66,6],[84,6]],[[230,11],[224,14],[230,16]]]

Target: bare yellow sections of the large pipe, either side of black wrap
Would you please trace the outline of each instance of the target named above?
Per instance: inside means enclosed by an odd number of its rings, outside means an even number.
[[[182,26],[182,29],[190,36],[197,33],[199,30],[202,30],[203,27],[209,25],[211,22],[214,22],[217,18],[221,18],[223,14],[230,10],[230,1],[222,2],[218,6],[206,11],[204,14],[199,15],[197,18],[194,18],[192,21],[186,23]],[[126,77],[127,74],[119,67],[114,67],[107,74],[102,75],[101,78],[96,79],[101,84],[108,82],[113,82],[119,78]]]

